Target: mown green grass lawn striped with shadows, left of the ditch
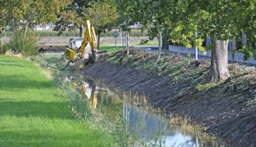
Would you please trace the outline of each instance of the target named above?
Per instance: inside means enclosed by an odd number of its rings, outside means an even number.
[[[113,146],[107,131],[72,118],[66,99],[34,63],[0,55],[0,146]]]

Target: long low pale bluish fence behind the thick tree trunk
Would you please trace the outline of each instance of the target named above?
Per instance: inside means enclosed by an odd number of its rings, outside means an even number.
[[[195,48],[192,49],[186,49],[186,47],[180,47],[180,46],[175,46],[175,45],[170,45],[169,46],[169,51],[173,52],[173,53],[181,53],[181,54],[191,54],[191,55],[195,55],[196,51]],[[202,59],[204,58],[211,58],[211,51],[207,51],[206,55],[203,55],[203,52],[198,51],[197,55],[199,55]],[[228,53],[228,61],[235,61],[238,63],[248,63],[248,64],[253,64],[256,65],[256,60],[251,58],[247,61],[243,60],[244,54],[242,53],[234,53],[234,57],[232,57],[232,53]]]

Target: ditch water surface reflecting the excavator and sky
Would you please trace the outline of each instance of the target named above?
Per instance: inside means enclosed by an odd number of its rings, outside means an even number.
[[[136,134],[141,140],[145,140],[148,146],[220,146],[218,142],[199,139],[195,135],[185,135],[178,126],[169,125],[167,119],[122,101],[118,94],[105,85],[100,86],[94,80],[82,78],[82,82],[75,82],[72,76],[68,76],[68,80],[74,82],[74,86],[80,89],[81,95],[89,100],[93,109],[109,116],[110,120],[115,120],[122,113],[126,132]]]

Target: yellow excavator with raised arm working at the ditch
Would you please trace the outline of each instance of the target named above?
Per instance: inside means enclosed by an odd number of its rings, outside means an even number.
[[[98,51],[95,29],[91,26],[89,20],[86,20],[86,33],[84,37],[71,38],[70,46],[65,50],[68,65],[76,61],[83,61],[85,65],[88,65],[108,55],[107,51]]]

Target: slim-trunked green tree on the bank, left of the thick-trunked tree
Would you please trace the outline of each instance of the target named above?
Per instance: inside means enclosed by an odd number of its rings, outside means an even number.
[[[126,3],[122,5],[122,8],[126,10],[126,13],[124,14],[130,16],[128,21],[133,23],[139,22],[142,25],[141,29],[143,31],[148,30],[150,40],[157,37],[159,41],[157,62],[161,57],[162,32],[166,28],[165,20],[163,19],[166,13],[163,11],[163,9],[165,8],[165,3],[167,2],[167,0],[122,1],[122,3]],[[127,5],[127,3],[129,3],[129,5]]]

